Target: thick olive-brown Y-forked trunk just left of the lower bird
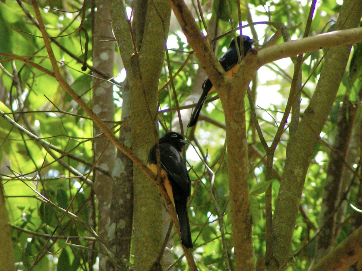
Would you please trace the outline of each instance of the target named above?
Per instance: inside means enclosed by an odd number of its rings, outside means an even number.
[[[146,162],[157,139],[157,87],[168,35],[171,10],[163,0],[148,1],[140,50],[132,46],[125,7],[109,0],[113,29],[121,52],[131,93],[132,152]],[[136,14],[134,14],[136,16]],[[155,39],[155,36],[158,37]],[[138,44],[137,44],[138,45]],[[148,270],[162,244],[161,200],[152,181],[134,166],[134,251],[135,270]]]

